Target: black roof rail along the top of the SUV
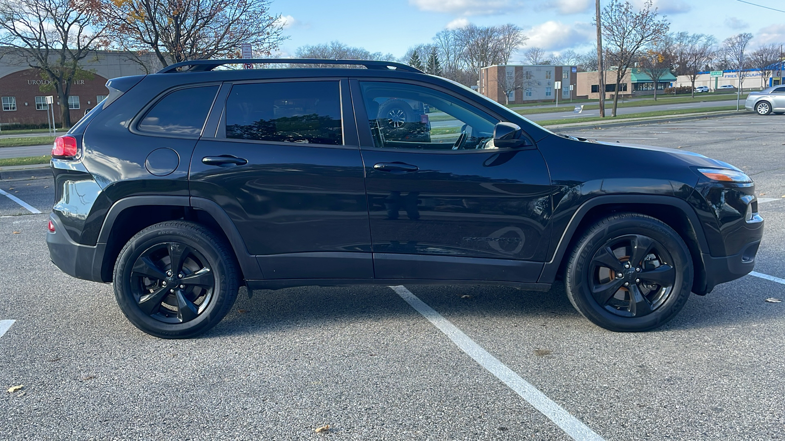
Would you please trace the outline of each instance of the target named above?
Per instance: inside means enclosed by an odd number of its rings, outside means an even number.
[[[157,74],[170,74],[175,72],[204,72],[212,71],[214,68],[225,64],[352,64],[364,66],[367,69],[378,71],[395,70],[424,74],[425,72],[407,64],[395,63],[393,61],[376,60],[333,60],[319,58],[232,58],[229,60],[192,60],[170,64],[162,68]],[[186,68],[182,68],[186,67]]]

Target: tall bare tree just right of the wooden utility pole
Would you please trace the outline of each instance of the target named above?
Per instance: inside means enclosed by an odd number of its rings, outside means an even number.
[[[652,8],[652,0],[647,0],[637,11],[630,2],[611,0],[602,9],[601,27],[605,56],[608,64],[616,67],[616,87],[611,114],[616,116],[622,78],[633,66],[644,46],[667,34],[670,23],[664,17],[659,17],[657,8]]]

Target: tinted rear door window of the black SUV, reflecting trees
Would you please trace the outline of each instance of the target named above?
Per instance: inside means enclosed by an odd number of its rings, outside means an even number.
[[[226,101],[226,137],[343,144],[338,82],[236,84]]]

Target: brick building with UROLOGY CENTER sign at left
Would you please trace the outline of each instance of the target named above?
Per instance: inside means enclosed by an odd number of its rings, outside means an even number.
[[[84,78],[77,79],[71,84],[68,103],[60,103],[53,86],[42,78],[39,71],[31,68],[24,59],[13,56],[9,49],[0,48],[5,52],[0,58],[0,97],[2,97],[2,112],[0,112],[0,125],[2,127],[16,124],[39,124],[46,126],[48,115],[51,115],[46,104],[46,97],[53,97],[54,118],[60,125],[61,106],[68,106],[71,112],[71,123],[79,121],[85,112],[103,100],[108,95],[106,82],[109,78],[126,75],[141,75],[147,73],[141,64],[130,60],[128,53],[118,51],[97,51],[82,60],[82,69],[87,73]],[[148,70],[155,71],[157,66],[154,60],[148,58]]]

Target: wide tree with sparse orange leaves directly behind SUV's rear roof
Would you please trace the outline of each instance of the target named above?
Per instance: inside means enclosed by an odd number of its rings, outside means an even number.
[[[65,1],[65,0],[63,0]],[[270,0],[82,0],[98,14],[111,48],[152,52],[163,66],[185,60],[239,57],[242,43],[269,55],[286,37]]]

